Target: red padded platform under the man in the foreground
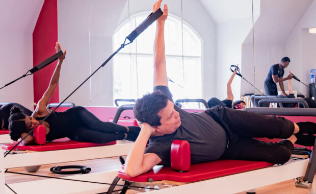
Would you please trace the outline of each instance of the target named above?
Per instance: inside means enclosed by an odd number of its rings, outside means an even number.
[[[156,168],[157,166],[155,166],[153,170],[137,177],[129,177],[122,170],[118,172],[118,177],[133,182],[148,182],[148,179],[150,178],[152,181],[168,180],[176,182],[195,182],[236,173],[243,173],[272,165],[272,163],[260,161],[217,160],[191,164],[190,170],[185,173],[177,172],[171,167],[159,166],[159,168]]]

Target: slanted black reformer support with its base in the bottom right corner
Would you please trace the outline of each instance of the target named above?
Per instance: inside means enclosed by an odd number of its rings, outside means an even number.
[[[295,183],[296,187],[311,189],[312,185],[315,184],[315,182],[313,183],[316,172],[316,156],[314,156],[314,153],[316,153],[316,140],[314,142],[314,147],[309,158],[304,178],[297,180],[297,182]]]

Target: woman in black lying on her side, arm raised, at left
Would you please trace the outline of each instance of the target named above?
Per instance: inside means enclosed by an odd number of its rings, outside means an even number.
[[[56,42],[56,52],[61,51],[61,46]],[[11,108],[9,117],[10,137],[16,141],[26,136],[51,110],[46,106],[54,93],[60,76],[64,54],[58,58],[54,74],[51,77],[49,86],[42,98],[38,101],[37,107],[31,116],[25,115],[19,107]],[[52,113],[43,123],[46,132],[46,140],[68,137],[72,140],[86,141],[93,143],[107,143],[115,140],[135,140],[140,131],[139,127],[124,127],[110,122],[102,122],[86,108],[77,106],[64,112]],[[24,144],[33,144],[34,137],[27,136]]]

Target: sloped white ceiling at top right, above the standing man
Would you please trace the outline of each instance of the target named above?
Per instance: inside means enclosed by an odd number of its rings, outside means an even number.
[[[283,44],[313,0],[264,0],[254,25],[255,44]],[[252,43],[249,32],[244,43]]]

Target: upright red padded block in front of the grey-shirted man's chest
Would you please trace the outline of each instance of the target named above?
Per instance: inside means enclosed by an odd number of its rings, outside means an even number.
[[[189,171],[191,150],[188,141],[174,140],[171,144],[171,167],[177,171]]]

